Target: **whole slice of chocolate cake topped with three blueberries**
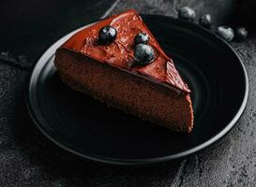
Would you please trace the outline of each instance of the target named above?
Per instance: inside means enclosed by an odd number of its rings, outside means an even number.
[[[71,36],[54,64],[74,90],[171,130],[192,130],[188,85],[134,10]]]

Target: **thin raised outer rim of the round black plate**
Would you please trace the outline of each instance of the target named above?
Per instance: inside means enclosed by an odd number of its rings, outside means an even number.
[[[162,15],[148,15],[148,14],[143,14],[143,17],[160,17],[161,19],[171,19],[174,22],[184,22],[184,21],[180,21],[178,19],[174,19],[172,17],[166,17],[166,16],[162,16]],[[75,29],[74,31],[68,33],[65,36],[62,36],[61,38],[59,38],[57,41],[55,41],[53,43],[52,46],[50,46],[47,50],[44,51],[44,53],[40,56],[40,58],[38,59],[38,62],[34,65],[33,67],[33,71],[31,73],[31,76],[29,78],[28,81],[28,89],[26,90],[26,96],[25,96],[25,100],[26,100],[26,107],[28,110],[28,113],[30,115],[30,118],[32,119],[32,121],[36,124],[36,126],[38,127],[38,129],[40,130],[40,132],[47,138],[49,138],[55,145],[57,145],[58,147],[71,152],[77,156],[83,157],[85,159],[89,159],[91,161],[95,161],[95,162],[99,162],[99,163],[103,163],[103,164],[111,164],[111,165],[149,165],[149,164],[157,164],[157,163],[162,163],[162,162],[168,162],[168,161],[173,161],[173,160],[178,160],[178,159],[182,159],[187,157],[188,155],[192,155],[196,152],[199,151],[203,151],[205,148],[209,147],[210,145],[213,145],[214,143],[216,143],[218,140],[221,139],[221,137],[224,137],[225,135],[227,135],[227,133],[233,128],[234,124],[239,120],[239,118],[241,117],[241,115],[243,114],[246,106],[247,106],[247,102],[248,102],[248,72],[246,69],[246,66],[244,65],[241,57],[239,56],[239,54],[237,53],[236,50],[233,49],[233,47],[227,43],[226,41],[224,41],[222,38],[213,35],[210,31],[204,29],[203,27],[194,24],[194,23],[190,23],[190,22],[186,22],[190,25],[194,25],[195,27],[199,27],[200,29],[203,29],[205,32],[211,34],[212,36],[215,36],[216,39],[220,39],[221,42],[223,42],[225,44],[225,46],[227,48],[229,48],[230,50],[233,51],[233,54],[236,56],[236,58],[239,61],[239,64],[242,67],[243,73],[244,73],[244,77],[245,77],[245,92],[244,92],[244,98],[243,101],[240,105],[240,107],[238,108],[238,110],[236,111],[235,115],[233,116],[233,119],[231,122],[228,122],[227,125],[218,132],[217,135],[215,135],[214,137],[209,138],[208,140],[204,141],[202,144],[195,146],[193,148],[190,148],[186,151],[180,151],[178,153],[174,153],[168,156],[163,156],[163,157],[157,157],[157,158],[149,158],[149,159],[120,159],[120,158],[112,158],[112,157],[102,157],[100,155],[94,155],[94,154],[84,154],[81,153],[79,151],[75,151],[74,149],[69,148],[68,146],[62,144],[61,142],[58,142],[57,140],[55,140],[53,137],[51,137],[50,135],[47,134],[47,132],[45,132],[40,125],[40,122],[38,120],[37,114],[35,112],[35,110],[37,110],[37,108],[34,108],[35,106],[33,106],[33,104],[31,103],[31,90],[32,90],[32,85],[34,85],[34,81],[35,81],[35,77],[38,77],[38,69],[41,69],[41,67],[43,67],[44,65],[46,65],[45,63],[45,59],[49,59],[50,57],[53,57],[54,55],[54,51],[60,46],[62,45],[63,41],[66,41],[68,39],[69,36],[72,36],[73,34],[75,34],[76,32],[82,30],[83,28],[86,28],[92,24],[94,24],[96,22],[92,22],[89,24],[86,24],[85,26],[82,26],[78,29]]]

